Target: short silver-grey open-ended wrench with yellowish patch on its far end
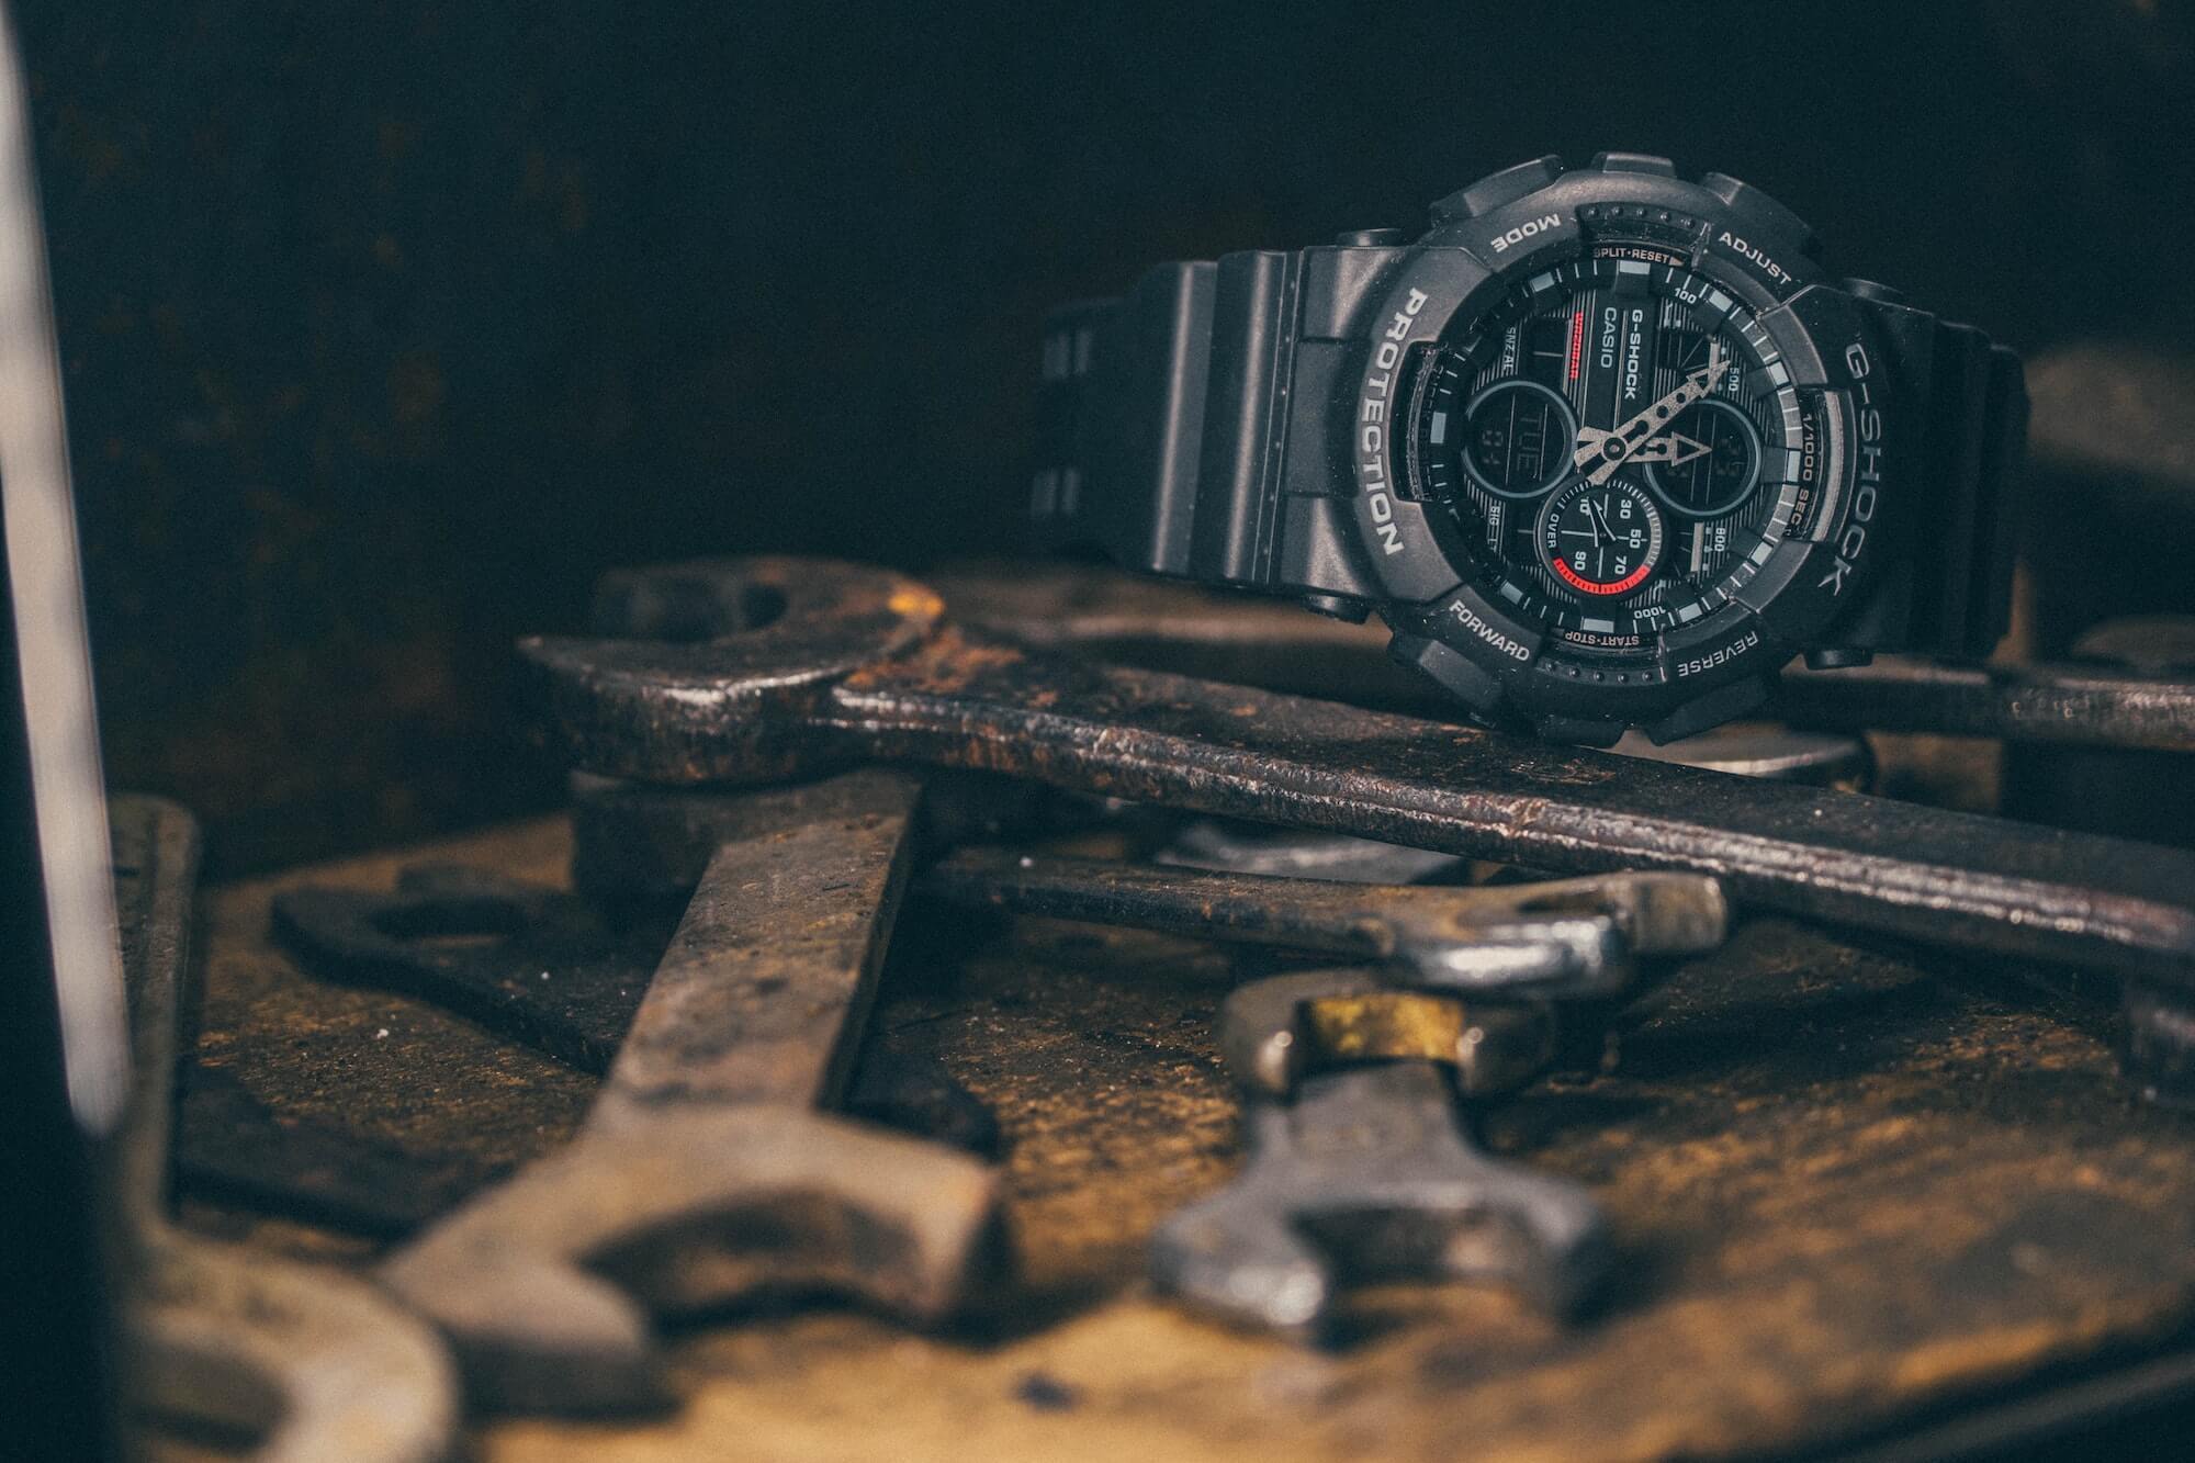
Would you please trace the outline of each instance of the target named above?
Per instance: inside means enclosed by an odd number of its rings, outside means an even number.
[[[1493,1281],[1576,1314],[1609,1267],[1598,1204],[1484,1153],[1442,1072],[1475,1096],[1510,1092],[1552,1041],[1543,1006],[1466,1006],[1359,971],[1238,989],[1220,1050],[1247,1092],[1249,1158],[1159,1228],[1152,1278],[1198,1309],[1306,1338],[1361,1278]],[[1374,1065],[1343,1065],[1361,1061]]]

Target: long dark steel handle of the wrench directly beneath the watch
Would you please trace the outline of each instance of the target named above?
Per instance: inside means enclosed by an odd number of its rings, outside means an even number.
[[[1760,909],[2195,986],[2195,857],[2125,839],[961,635],[834,685],[810,727],[838,756],[1003,771],[1561,874],[1714,874]]]

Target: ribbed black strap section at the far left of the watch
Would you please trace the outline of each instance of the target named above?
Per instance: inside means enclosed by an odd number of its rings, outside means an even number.
[[[1271,587],[1302,255],[1163,264],[1043,332],[1029,512],[1047,547]]]

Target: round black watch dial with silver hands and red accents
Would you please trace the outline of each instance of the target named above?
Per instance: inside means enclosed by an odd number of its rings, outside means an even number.
[[[1455,325],[1411,391],[1411,490],[1488,598],[1624,655],[1727,604],[1815,494],[1820,404],[1684,255],[1596,244]]]

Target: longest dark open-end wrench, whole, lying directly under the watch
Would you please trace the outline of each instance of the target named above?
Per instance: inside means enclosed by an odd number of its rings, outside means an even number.
[[[1093,666],[955,628],[876,569],[680,565],[606,598],[683,639],[520,641],[549,736],[606,775],[975,767],[1550,872],[1706,872],[1741,903],[2195,986],[2184,852]]]

